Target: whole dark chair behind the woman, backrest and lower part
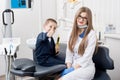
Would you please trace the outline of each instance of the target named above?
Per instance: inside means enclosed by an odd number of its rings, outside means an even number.
[[[114,69],[114,62],[109,56],[109,49],[105,46],[98,46],[97,53],[93,56],[95,63],[95,76],[93,80],[111,80],[107,70]]]

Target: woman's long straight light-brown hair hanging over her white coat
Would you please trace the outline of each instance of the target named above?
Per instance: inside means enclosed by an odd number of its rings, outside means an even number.
[[[77,13],[75,15],[75,18],[74,18],[74,24],[73,24],[72,33],[71,33],[69,43],[68,43],[70,51],[73,52],[76,41],[78,39],[78,30],[79,30],[79,28],[77,27],[77,18],[79,17],[79,15],[82,12],[85,12],[87,14],[87,26],[88,27],[86,28],[85,35],[84,35],[84,37],[82,39],[82,42],[79,45],[78,54],[80,54],[80,55],[84,54],[85,48],[87,47],[87,36],[88,36],[90,30],[93,29],[92,12],[91,12],[91,10],[89,8],[82,7],[77,11]]]

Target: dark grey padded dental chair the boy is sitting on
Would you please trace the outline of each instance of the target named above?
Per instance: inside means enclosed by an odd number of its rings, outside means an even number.
[[[65,59],[65,51],[66,45],[60,44],[60,52],[56,56]],[[35,77],[35,80],[54,80],[54,78],[66,68],[66,65],[64,64],[51,67],[36,65],[34,59],[34,53],[33,60],[27,58],[16,59],[12,63],[13,68],[10,72],[15,76],[21,77],[21,80],[25,76]]]

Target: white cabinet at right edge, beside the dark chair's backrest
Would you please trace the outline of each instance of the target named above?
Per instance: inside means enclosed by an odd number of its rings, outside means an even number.
[[[108,70],[111,80],[120,80],[120,34],[105,35],[110,57],[114,60],[114,70]]]

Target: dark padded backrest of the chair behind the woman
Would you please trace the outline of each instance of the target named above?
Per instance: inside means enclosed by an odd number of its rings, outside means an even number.
[[[98,46],[98,51],[93,55],[93,62],[97,69],[114,69],[113,60],[109,56],[109,49]]]

